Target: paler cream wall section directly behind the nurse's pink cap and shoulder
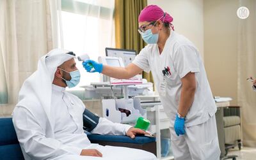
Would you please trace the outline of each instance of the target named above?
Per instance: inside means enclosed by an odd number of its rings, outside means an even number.
[[[175,31],[191,40],[204,59],[203,0],[148,0],[172,15]]]

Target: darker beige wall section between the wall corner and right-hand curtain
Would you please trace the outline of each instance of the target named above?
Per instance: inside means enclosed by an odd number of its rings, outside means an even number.
[[[237,105],[239,0],[204,0],[204,63],[212,94]]]

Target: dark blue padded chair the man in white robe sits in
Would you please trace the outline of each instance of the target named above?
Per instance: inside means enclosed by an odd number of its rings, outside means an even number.
[[[156,138],[137,136],[92,135],[88,133],[92,143],[143,149],[156,155]],[[0,118],[0,160],[23,160],[19,141],[13,127],[12,118]]]

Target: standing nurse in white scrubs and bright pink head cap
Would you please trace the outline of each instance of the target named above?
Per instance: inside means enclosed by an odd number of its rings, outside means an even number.
[[[173,18],[159,6],[145,7],[138,18],[148,45],[125,68],[88,60],[84,68],[114,78],[127,79],[152,71],[156,89],[170,119],[172,150],[176,160],[217,160],[220,148],[216,128],[216,105],[204,64],[195,45],[173,31]]]

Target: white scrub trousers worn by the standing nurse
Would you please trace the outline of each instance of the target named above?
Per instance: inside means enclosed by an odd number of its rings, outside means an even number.
[[[175,160],[220,160],[220,147],[215,115],[207,122],[186,127],[185,135],[177,136],[170,127]]]

